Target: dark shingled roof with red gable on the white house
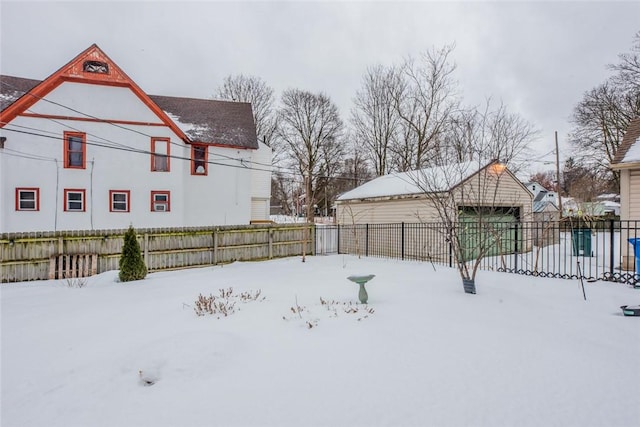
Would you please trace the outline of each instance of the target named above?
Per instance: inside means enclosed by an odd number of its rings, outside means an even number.
[[[108,73],[83,72],[88,61],[107,64]],[[258,148],[251,104],[147,95],[95,44],[45,80],[0,76],[0,127],[65,81],[128,87],[187,143]]]

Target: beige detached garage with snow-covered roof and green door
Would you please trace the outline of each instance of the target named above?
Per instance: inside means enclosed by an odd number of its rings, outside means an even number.
[[[511,251],[516,250],[516,235],[520,242],[530,244],[524,233],[514,234],[516,227],[507,224],[531,219],[532,194],[498,162],[467,162],[380,176],[338,198],[336,221],[344,225],[438,223],[442,217],[432,201],[431,196],[435,195],[451,196],[451,209],[455,211],[449,216],[460,223],[473,224],[482,215],[485,221],[502,224],[497,227],[506,226],[514,237],[504,239],[513,245]],[[473,225],[469,229],[477,230]],[[436,238],[433,239],[410,245],[416,250],[427,251],[432,259],[446,257],[446,252],[438,249],[444,240],[436,242]],[[399,242],[388,242],[387,246],[399,247]],[[518,250],[522,249],[521,243]]]

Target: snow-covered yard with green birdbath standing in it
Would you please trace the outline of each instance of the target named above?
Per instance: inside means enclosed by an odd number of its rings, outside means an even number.
[[[640,318],[619,307],[639,290],[585,283],[585,302],[579,281],[481,272],[467,295],[436,269],[335,255],[4,284],[0,424],[637,425]],[[373,313],[352,274],[376,275]],[[228,288],[265,299],[195,314]]]

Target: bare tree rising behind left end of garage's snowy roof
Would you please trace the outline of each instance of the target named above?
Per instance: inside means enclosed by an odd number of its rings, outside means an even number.
[[[351,110],[354,138],[366,149],[376,176],[389,172],[388,154],[398,129],[399,116],[392,94],[402,84],[396,67],[376,65],[367,69]]]

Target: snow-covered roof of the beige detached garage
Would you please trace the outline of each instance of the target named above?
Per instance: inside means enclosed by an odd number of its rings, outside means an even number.
[[[424,194],[425,185],[419,184],[424,182],[425,179],[429,180],[428,188],[434,193],[450,191],[494,163],[497,163],[497,161],[494,160],[486,164],[470,161],[417,171],[394,172],[379,176],[351,191],[347,191],[338,197],[338,201]],[[505,171],[508,172],[508,169],[505,168]],[[526,188],[524,185],[522,187]],[[528,190],[527,193],[531,194]]]

